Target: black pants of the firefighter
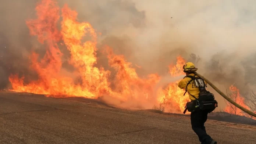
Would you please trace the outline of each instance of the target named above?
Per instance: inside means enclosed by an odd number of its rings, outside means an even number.
[[[209,143],[212,139],[206,133],[205,122],[207,120],[208,111],[197,109],[195,112],[191,112],[191,126],[193,131],[198,135],[201,143]]]

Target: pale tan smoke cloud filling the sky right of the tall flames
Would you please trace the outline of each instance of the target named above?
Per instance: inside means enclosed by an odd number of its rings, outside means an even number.
[[[255,1],[67,1],[102,32],[101,44],[142,66],[140,75],[165,75],[177,55],[192,61],[221,90],[253,89],[256,72]],[[88,7],[89,6],[89,7]],[[85,8],[86,7],[86,8]],[[191,53],[195,54],[192,55]],[[106,65],[104,55],[98,54]],[[212,90],[213,91],[213,90]]]

